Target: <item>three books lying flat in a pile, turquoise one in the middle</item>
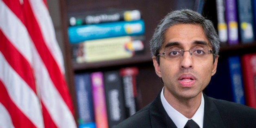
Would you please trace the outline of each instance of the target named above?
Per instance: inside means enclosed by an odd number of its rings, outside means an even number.
[[[77,63],[129,58],[144,49],[139,10],[110,9],[69,15],[68,37]]]

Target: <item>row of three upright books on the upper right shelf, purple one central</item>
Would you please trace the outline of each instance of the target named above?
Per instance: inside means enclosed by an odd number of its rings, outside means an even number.
[[[216,0],[217,29],[223,44],[255,41],[256,0]]]

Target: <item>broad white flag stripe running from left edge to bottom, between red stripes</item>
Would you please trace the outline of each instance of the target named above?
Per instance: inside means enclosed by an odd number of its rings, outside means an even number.
[[[0,52],[0,79],[12,101],[38,128],[44,128],[42,111],[37,95],[11,68]]]

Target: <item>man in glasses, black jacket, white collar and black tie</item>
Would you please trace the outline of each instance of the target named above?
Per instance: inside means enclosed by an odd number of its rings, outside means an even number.
[[[210,20],[188,9],[169,13],[150,40],[163,89],[117,128],[256,128],[256,109],[202,93],[216,73],[219,45]]]

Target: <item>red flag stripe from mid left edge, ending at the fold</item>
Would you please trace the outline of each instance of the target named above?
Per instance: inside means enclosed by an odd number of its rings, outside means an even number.
[[[17,49],[15,49],[15,46],[9,42],[1,30],[0,37],[0,42],[2,42],[0,43],[0,51],[4,55],[5,59],[20,75],[20,77],[24,79],[24,81],[30,86],[34,93],[36,93],[33,69],[31,68],[29,62],[20,54]]]

